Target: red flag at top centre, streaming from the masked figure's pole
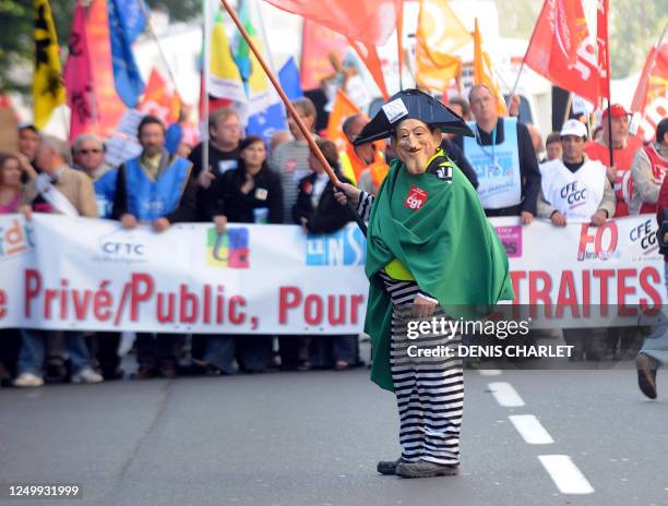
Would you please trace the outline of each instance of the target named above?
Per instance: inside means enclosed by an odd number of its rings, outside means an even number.
[[[403,0],[265,0],[293,14],[308,17],[346,38],[373,46],[387,41],[401,16]]]

